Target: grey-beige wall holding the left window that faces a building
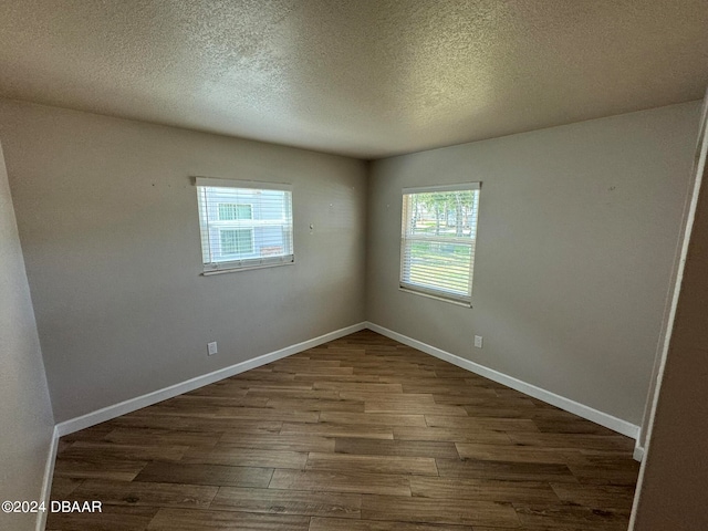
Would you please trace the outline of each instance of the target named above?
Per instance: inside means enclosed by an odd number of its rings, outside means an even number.
[[[56,421],[364,320],[363,162],[10,101],[0,139]],[[195,175],[291,183],[295,264],[199,275]]]

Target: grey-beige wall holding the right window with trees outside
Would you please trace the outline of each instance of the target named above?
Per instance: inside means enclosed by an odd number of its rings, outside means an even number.
[[[698,115],[688,103],[375,162],[368,321],[638,425]],[[399,291],[400,189],[469,180],[483,183],[473,308]]]

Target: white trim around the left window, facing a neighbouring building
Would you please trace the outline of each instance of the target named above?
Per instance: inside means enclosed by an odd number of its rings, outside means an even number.
[[[232,179],[219,179],[219,178],[212,178],[212,177],[192,177],[194,180],[194,186],[197,188],[197,205],[198,205],[198,218],[199,218],[199,240],[200,240],[200,248],[201,248],[201,254],[202,254],[202,272],[200,273],[200,275],[202,277],[208,277],[211,274],[221,274],[221,273],[231,273],[231,272],[236,272],[236,271],[248,271],[248,270],[252,270],[252,269],[263,269],[263,268],[271,268],[271,267],[275,267],[275,266],[292,266],[295,261],[295,254],[294,254],[294,222],[293,222],[293,205],[292,205],[292,185],[290,184],[285,184],[285,183],[263,183],[263,181],[257,181],[257,180],[232,180]],[[204,231],[205,231],[205,226],[204,223],[204,216],[202,216],[202,211],[201,211],[201,205],[202,205],[202,194],[206,194],[206,190],[204,190],[202,188],[214,188],[214,187],[218,187],[218,188],[248,188],[248,189],[254,189],[254,190],[275,190],[275,191],[283,191],[289,194],[290,196],[290,225],[289,225],[289,229],[290,229],[290,253],[289,254],[282,254],[282,256],[277,256],[277,257],[258,257],[258,258],[246,258],[246,259],[241,259],[241,260],[229,260],[229,261],[219,261],[219,262],[204,262],[204,252],[205,252],[205,241],[204,241]],[[207,230],[209,227],[209,220],[207,221]],[[284,227],[282,223],[272,223],[270,222],[271,220],[236,220],[238,221],[264,221],[262,223],[256,222],[256,223],[251,223],[249,225],[249,227],[243,227],[243,228],[254,228],[258,226],[267,226],[267,225],[277,225],[277,226],[282,226]],[[220,222],[229,222],[229,221],[219,221],[219,220],[215,220],[214,222],[216,223],[220,223]],[[226,227],[225,227],[226,228]],[[207,243],[207,246],[209,246]],[[211,252],[211,247],[208,247],[208,251]]]

